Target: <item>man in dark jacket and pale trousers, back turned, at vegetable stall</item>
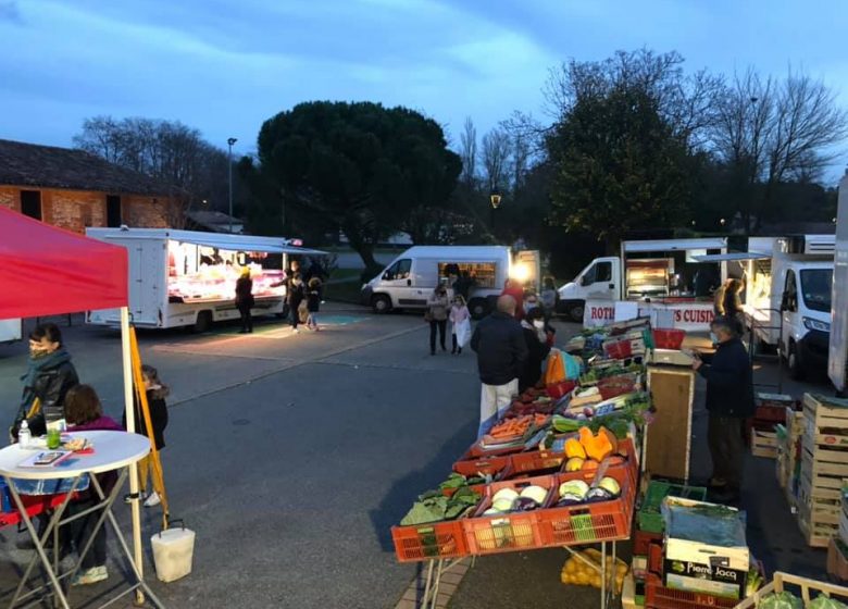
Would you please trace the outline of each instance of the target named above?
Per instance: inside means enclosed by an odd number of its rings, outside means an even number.
[[[497,310],[477,324],[471,348],[477,353],[477,369],[483,383],[479,401],[482,437],[500,419],[513,396],[519,394],[519,377],[527,359],[524,331],[515,320],[515,299],[498,298]]]

